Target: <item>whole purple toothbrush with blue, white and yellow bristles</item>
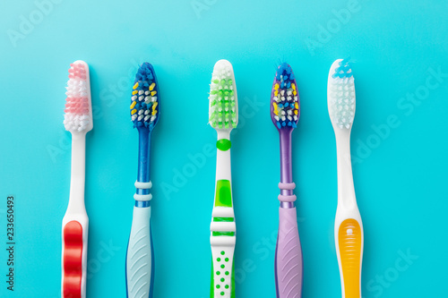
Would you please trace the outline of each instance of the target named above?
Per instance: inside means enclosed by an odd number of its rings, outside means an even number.
[[[297,127],[300,101],[289,64],[280,64],[271,90],[271,120],[280,134],[279,235],[275,250],[277,298],[302,297],[303,259],[297,229],[296,184],[292,181],[291,132]]]

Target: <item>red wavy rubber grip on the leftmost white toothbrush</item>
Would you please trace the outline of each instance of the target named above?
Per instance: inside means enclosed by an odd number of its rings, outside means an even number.
[[[64,298],[81,298],[82,226],[73,220],[64,227]]]

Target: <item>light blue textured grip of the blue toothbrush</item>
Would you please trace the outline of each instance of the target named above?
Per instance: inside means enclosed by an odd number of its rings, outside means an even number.
[[[129,298],[151,297],[151,207],[134,207],[133,226],[126,253],[126,291]]]

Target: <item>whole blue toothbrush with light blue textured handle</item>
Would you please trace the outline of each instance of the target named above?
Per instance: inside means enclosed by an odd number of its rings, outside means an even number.
[[[126,252],[126,297],[152,297],[154,253],[151,239],[151,132],[159,121],[159,84],[154,68],[142,64],[135,74],[131,120],[139,132],[138,175],[134,214]]]

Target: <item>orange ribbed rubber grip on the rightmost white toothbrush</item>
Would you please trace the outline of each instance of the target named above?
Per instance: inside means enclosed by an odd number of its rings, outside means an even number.
[[[340,224],[338,241],[345,298],[359,298],[361,296],[362,229],[356,219],[349,218]]]

